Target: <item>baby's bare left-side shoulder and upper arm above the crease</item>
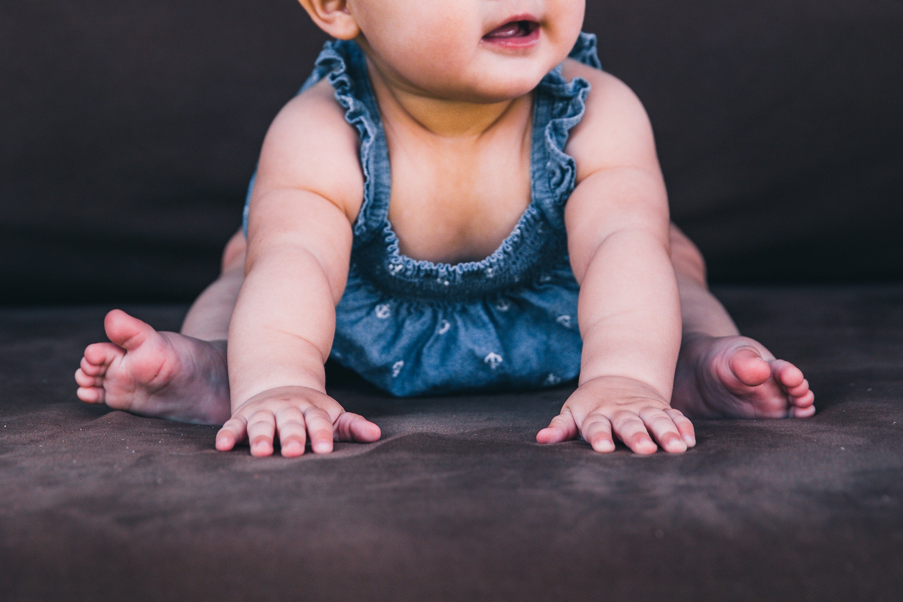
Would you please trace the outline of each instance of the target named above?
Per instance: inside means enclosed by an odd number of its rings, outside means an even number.
[[[283,107],[266,133],[256,189],[310,190],[348,209],[359,204],[364,177],[358,134],[322,80]]]

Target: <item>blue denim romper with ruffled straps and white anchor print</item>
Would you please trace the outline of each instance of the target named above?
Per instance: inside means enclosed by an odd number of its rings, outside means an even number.
[[[600,68],[596,37],[582,33],[573,59]],[[386,134],[355,42],[327,42],[302,91],[323,78],[360,136],[364,199],[354,223],[348,284],[336,307],[330,357],[398,396],[535,389],[580,372],[577,295],[564,204],[576,166],[564,153],[590,84],[561,66],[535,89],[532,201],[498,249],[479,262],[433,264],[398,251],[388,221]],[[248,188],[248,200],[254,179]],[[247,203],[245,231],[247,233]]]

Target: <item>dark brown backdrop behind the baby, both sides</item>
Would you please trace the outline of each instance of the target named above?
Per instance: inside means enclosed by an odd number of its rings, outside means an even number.
[[[903,3],[590,1],[714,282],[903,279]],[[0,304],[189,301],[325,36],[292,0],[0,5]]]

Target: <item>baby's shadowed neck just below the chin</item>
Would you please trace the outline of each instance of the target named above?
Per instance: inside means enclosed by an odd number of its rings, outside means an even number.
[[[391,69],[368,60],[370,81],[383,121],[412,125],[421,134],[442,138],[479,139],[511,117],[520,120],[517,107],[532,107],[532,95],[498,103],[477,103],[432,96],[401,80]],[[525,124],[526,125],[526,124]]]

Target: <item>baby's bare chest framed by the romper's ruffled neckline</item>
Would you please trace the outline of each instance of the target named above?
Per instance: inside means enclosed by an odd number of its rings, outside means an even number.
[[[389,221],[400,251],[449,264],[491,255],[531,200],[528,149],[512,150],[394,153]]]

